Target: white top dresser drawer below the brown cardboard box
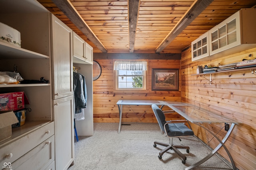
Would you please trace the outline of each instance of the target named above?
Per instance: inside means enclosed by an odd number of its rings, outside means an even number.
[[[52,135],[54,135],[54,122],[0,148],[0,165],[3,165],[5,162],[14,162]]]

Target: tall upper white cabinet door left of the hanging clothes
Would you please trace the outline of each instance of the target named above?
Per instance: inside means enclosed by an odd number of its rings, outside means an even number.
[[[72,30],[51,15],[53,99],[73,95]]]

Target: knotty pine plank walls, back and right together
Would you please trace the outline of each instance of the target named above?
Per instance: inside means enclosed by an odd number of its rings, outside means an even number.
[[[142,94],[114,93],[113,60],[95,59],[102,67],[102,75],[93,82],[94,122],[118,122],[116,102],[122,99],[182,100],[207,107],[218,114],[242,122],[234,129],[226,146],[238,169],[256,170],[256,75],[250,71],[214,74],[212,76],[213,84],[208,84],[208,80],[202,76],[191,76],[196,73],[197,65],[217,66],[219,63],[228,64],[254,58],[256,58],[256,48],[220,57],[214,61],[192,62],[189,48],[182,53],[181,60],[149,60],[149,90],[148,93]],[[152,91],[152,68],[181,68],[179,91]],[[142,116],[143,113],[145,114]],[[170,116],[170,119],[179,118],[178,114]],[[148,106],[125,106],[122,121],[156,123],[152,109]],[[223,127],[221,124],[207,126],[214,132]],[[210,134],[196,125],[192,125],[192,128],[205,143],[212,138]],[[218,135],[223,137],[225,133],[226,131],[221,130]],[[213,148],[217,144],[213,139],[209,145]],[[220,149],[219,153],[229,160],[225,150]]]

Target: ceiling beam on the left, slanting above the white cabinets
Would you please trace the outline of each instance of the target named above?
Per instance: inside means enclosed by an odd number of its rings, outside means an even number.
[[[92,41],[100,51],[102,51],[102,53],[108,52],[69,0],[52,0],[52,2],[60,8],[70,21],[72,21],[74,25],[76,25],[76,27],[78,27],[78,29],[80,29],[80,31],[82,31],[82,33],[84,33],[84,35],[86,35],[86,37]]]

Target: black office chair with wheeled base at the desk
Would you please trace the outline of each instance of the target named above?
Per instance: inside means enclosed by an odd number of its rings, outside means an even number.
[[[169,138],[169,144],[154,141],[154,147],[156,144],[165,146],[163,150],[159,152],[158,158],[162,159],[162,155],[167,152],[169,149],[173,149],[180,157],[182,157],[182,163],[186,163],[186,156],[180,152],[179,149],[186,149],[186,152],[189,153],[189,147],[183,145],[173,145],[172,138],[174,137],[186,137],[186,136],[193,136],[194,132],[189,129],[184,123],[188,122],[186,120],[174,120],[174,121],[166,121],[164,112],[155,104],[152,105],[152,109],[158,121],[158,125],[162,132]]]

